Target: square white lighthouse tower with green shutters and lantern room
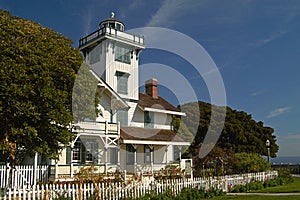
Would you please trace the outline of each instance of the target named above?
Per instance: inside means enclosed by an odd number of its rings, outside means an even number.
[[[134,102],[138,94],[138,58],[144,38],[124,32],[124,23],[111,17],[79,40],[84,60],[120,97]]]

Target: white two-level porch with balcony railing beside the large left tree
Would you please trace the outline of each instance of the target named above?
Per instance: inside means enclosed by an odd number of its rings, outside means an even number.
[[[72,126],[75,140],[58,160],[50,162],[50,181],[72,180],[81,168],[93,166],[95,173],[114,172],[119,166],[120,126],[109,122],[80,122]]]

